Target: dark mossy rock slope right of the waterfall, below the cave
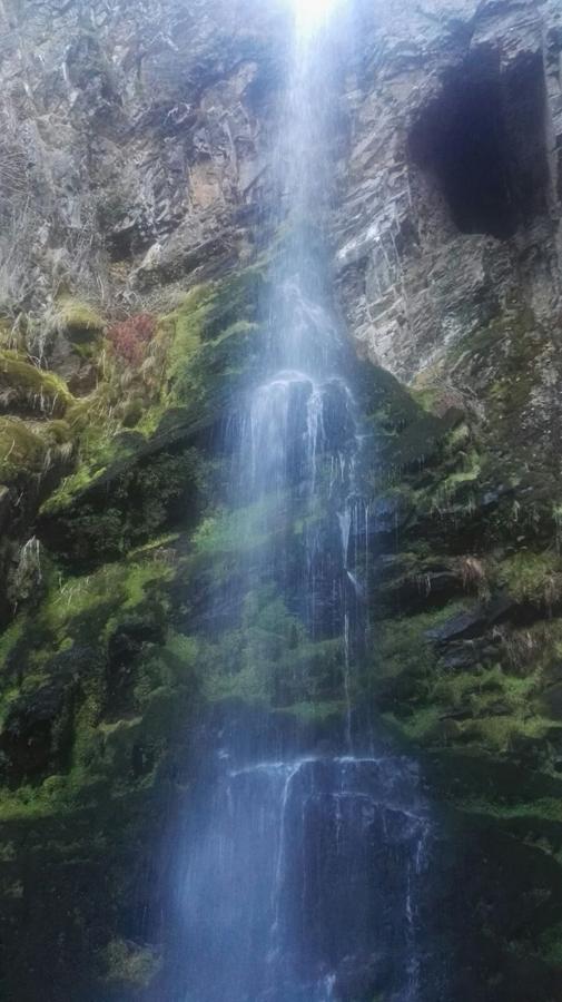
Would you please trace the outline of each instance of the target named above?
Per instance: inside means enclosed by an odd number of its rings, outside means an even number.
[[[414,397],[434,415],[448,413],[450,429],[417,469],[391,463],[373,504],[368,686],[383,718],[422,756],[452,825],[460,886],[470,885],[459,999],[554,1000],[561,988],[551,352],[531,313],[465,338],[447,364],[479,406],[427,374]]]

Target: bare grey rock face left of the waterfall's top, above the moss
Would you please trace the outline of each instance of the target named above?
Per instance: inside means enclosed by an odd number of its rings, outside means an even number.
[[[130,308],[244,248],[267,21],[237,4],[126,7],[3,6],[14,306],[70,285]]]

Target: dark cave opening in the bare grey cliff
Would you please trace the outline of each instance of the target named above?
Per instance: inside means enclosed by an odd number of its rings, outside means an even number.
[[[410,134],[413,164],[437,183],[461,233],[509,239],[546,208],[542,63],[502,72],[477,53],[443,79]]]

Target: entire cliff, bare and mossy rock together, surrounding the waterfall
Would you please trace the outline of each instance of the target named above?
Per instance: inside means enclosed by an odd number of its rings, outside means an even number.
[[[318,747],[342,729],[342,650],[239,593],[249,543],[217,502],[217,429],[259,370],[284,239],[286,17],[0,2],[0,984],[18,1002],[167,983],[155,846],[205,757],[198,716],[228,700],[240,731],[263,713]],[[339,17],[315,223],[375,442],[355,713],[420,760],[450,833],[443,1002],[555,1002],[562,12]],[[314,669],[305,705],[287,650]],[[359,975],[345,1002],[371,1002]]]

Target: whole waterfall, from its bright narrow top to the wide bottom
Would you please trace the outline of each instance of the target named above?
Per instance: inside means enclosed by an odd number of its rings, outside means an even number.
[[[277,222],[289,236],[270,275],[264,380],[230,425],[230,505],[253,512],[239,520],[253,543],[239,595],[282,595],[300,625],[279,641],[288,650],[277,705],[329,698],[344,723],[306,748],[303,736],[279,737],[268,711],[225,711],[175,867],[174,1002],[423,998],[420,888],[432,823],[416,768],[377,754],[354,715],[368,590],[363,438],[312,238],[329,190],[333,37],[295,18],[275,157]],[[246,658],[255,650],[248,638]]]

